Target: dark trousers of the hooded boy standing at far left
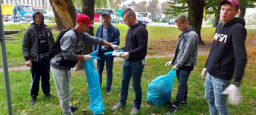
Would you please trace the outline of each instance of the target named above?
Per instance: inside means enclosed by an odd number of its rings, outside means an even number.
[[[48,59],[42,61],[31,61],[32,67],[30,72],[32,74],[32,85],[30,89],[30,96],[36,98],[39,91],[39,81],[41,78],[41,86],[44,95],[50,94],[50,63]]]

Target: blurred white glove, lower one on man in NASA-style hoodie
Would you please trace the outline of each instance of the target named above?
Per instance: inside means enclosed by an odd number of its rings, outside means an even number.
[[[223,92],[223,94],[228,94],[228,102],[232,105],[238,105],[242,102],[242,96],[239,87],[231,84]]]

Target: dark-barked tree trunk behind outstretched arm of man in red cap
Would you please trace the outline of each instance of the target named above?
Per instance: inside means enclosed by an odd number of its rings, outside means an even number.
[[[83,0],[83,9],[82,14],[85,14],[90,17],[92,24],[93,24],[93,15],[94,15],[94,0]],[[90,34],[91,36],[94,35],[93,28],[89,27],[89,31],[86,33]],[[87,55],[92,53],[92,46],[84,45],[82,55]],[[84,60],[78,60],[76,65],[76,71],[84,69]]]

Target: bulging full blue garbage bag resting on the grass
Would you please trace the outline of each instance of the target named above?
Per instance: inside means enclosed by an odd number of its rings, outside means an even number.
[[[173,79],[176,70],[171,70],[167,75],[156,77],[148,84],[147,101],[154,105],[164,105],[170,102]]]

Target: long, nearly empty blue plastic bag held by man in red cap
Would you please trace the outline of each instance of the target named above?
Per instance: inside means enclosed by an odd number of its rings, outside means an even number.
[[[94,56],[97,52],[98,50],[89,55],[100,59],[99,57]],[[94,115],[102,114],[102,111],[104,110],[104,104],[101,97],[100,77],[95,70],[93,58],[88,61],[84,61],[84,70],[88,82],[88,92],[90,97],[90,106],[88,109],[92,110]]]

